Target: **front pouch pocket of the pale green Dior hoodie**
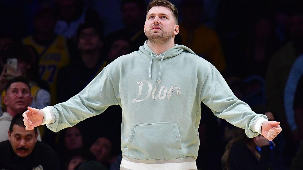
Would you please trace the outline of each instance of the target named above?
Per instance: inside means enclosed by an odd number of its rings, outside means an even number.
[[[178,124],[133,124],[127,147],[135,158],[142,160],[178,159],[182,149]]]

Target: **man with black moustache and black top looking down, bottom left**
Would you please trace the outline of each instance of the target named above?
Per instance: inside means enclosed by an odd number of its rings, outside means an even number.
[[[9,126],[8,140],[0,143],[0,169],[58,170],[55,151],[37,137],[37,128],[26,130],[22,115],[16,115]]]

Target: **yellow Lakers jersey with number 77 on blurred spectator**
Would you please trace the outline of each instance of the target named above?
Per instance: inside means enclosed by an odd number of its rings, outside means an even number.
[[[62,36],[57,36],[46,50],[45,46],[35,43],[32,36],[24,38],[23,44],[34,47],[40,55],[39,76],[42,80],[48,82],[51,93],[51,105],[57,104],[56,83],[58,70],[69,64],[66,39]]]

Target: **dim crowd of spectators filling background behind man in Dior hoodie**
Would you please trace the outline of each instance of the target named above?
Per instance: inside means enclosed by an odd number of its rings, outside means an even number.
[[[20,169],[4,161],[11,159],[31,169],[119,170],[120,106],[58,133],[45,125],[27,132],[20,113],[68,100],[113,60],[139,50],[148,2],[0,1],[0,150],[7,153],[0,169]],[[171,2],[180,13],[175,44],[211,62],[235,96],[283,128],[273,142],[249,139],[201,103],[198,169],[302,169],[303,2]]]

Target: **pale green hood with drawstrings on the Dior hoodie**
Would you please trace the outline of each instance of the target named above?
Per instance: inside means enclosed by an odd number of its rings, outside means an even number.
[[[175,47],[171,47],[167,51],[164,51],[162,54],[157,55],[154,51],[152,51],[148,45],[147,40],[145,41],[144,45],[140,46],[139,51],[142,53],[142,55],[150,60],[149,63],[149,78],[151,78],[151,64],[154,59],[161,60],[160,64],[160,70],[159,70],[159,76],[158,76],[158,83],[161,82],[161,73],[162,73],[162,63],[163,60],[167,60],[169,58],[175,57],[179,54],[181,54],[183,51],[187,51],[191,54],[197,55],[192,51],[190,48],[184,46],[184,45],[178,45],[175,44]]]

